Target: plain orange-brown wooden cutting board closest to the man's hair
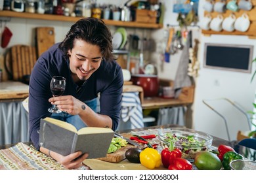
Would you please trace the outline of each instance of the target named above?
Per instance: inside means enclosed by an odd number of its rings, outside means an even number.
[[[54,27],[36,28],[37,56],[48,50],[55,43]]]

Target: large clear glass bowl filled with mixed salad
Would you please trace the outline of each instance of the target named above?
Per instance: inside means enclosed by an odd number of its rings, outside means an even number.
[[[194,129],[173,127],[158,131],[161,148],[170,146],[170,139],[175,148],[182,151],[182,158],[194,159],[196,152],[209,150],[213,137]]]

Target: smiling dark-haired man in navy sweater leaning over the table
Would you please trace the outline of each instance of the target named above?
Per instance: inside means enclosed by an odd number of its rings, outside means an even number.
[[[51,156],[68,169],[81,166],[87,154],[61,156],[39,146],[40,119],[52,117],[75,125],[110,127],[119,122],[123,74],[112,54],[112,35],[102,20],[84,18],[68,31],[64,41],[54,44],[35,63],[30,77],[30,138],[37,150]],[[53,97],[53,76],[66,78],[62,96]],[[96,99],[100,94],[100,111]],[[48,112],[57,105],[61,113]]]

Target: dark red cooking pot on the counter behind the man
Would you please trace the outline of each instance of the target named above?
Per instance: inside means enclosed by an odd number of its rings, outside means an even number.
[[[144,97],[158,96],[159,81],[157,75],[131,75],[131,81],[143,88]]]

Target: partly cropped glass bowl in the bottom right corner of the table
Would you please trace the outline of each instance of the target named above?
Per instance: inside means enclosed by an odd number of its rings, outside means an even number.
[[[232,170],[256,170],[256,161],[236,159],[229,163]]]

